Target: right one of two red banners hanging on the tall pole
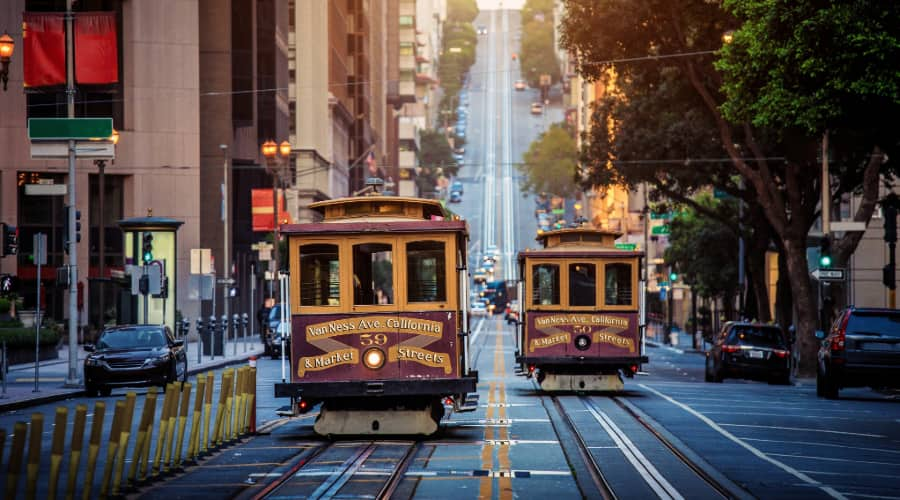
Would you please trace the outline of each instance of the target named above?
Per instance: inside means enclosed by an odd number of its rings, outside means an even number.
[[[119,47],[114,12],[79,12],[75,17],[75,81],[119,81]]]

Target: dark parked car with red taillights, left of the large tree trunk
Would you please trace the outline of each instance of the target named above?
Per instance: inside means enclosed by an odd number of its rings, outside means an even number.
[[[706,381],[725,378],[791,381],[791,349],[777,326],[728,322],[706,353]]]

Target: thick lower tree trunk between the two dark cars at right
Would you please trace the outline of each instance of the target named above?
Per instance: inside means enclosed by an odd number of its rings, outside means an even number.
[[[784,240],[787,254],[787,271],[791,281],[791,295],[794,301],[797,324],[798,374],[812,377],[816,373],[816,352],[818,342],[815,337],[818,304],[810,283],[806,262],[806,238]]]

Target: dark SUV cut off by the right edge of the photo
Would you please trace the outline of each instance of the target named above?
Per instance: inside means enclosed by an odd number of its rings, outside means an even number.
[[[851,306],[816,337],[819,396],[837,399],[843,387],[900,387],[900,309]]]

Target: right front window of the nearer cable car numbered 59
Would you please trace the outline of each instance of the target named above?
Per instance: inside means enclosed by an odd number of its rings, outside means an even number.
[[[406,296],[409,302],[446,302],[444,243],[413,241],[406,245]]]

